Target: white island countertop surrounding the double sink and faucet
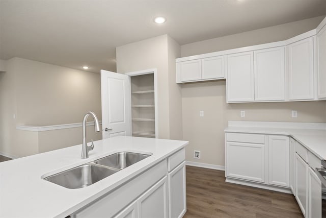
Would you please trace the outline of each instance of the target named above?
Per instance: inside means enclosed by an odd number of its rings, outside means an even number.
[[[186,146],[187,141],[118,136],[94,141],[88,159],[82,145],[0,163],[0,217],[65,217]],[[88,187],[68,189],[42,178],[119,151],[148,158]],[[42,178],[41,178],[42,177]]]

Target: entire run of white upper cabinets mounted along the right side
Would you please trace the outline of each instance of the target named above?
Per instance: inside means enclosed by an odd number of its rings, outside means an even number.
[[[290,39],[176,59],[177,83],[226,79],[227,103],[326,99],[326,18]]]

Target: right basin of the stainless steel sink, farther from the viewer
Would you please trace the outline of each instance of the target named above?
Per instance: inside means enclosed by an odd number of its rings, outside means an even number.
[[[148,154],[139,154],[139,153],[132,153],[132,152],[119,152],[119,153],[115,153],[113,155],[98,159],[98,160],[94,161],[94,163],[108,166],[108,167],[123,169],[123,168],[126,168],[134,163],[137,163],[149,156],[150,155],[148,155]]]

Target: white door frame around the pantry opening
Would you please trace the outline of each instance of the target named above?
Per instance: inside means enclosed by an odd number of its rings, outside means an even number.
[[[157,68],[152,69],[144,69],[144,70],[137,70],[132,72],[126,72],[125,75],[129,77],[146,75],[146,74],[153,74],[154,75],[154,113],[155,113],[155,138],[158,138],[158,88],[157,88]],[[132,118],[132,115],[131,115]],[[132,123],[132,120],[131,120]],[[131,133],[132,133],[132,125],[131,125]]]

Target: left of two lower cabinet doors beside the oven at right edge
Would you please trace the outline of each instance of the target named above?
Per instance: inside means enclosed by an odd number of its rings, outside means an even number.
[[[308,174],[308,164],[298,155],[295,154],[296,159],[296,195],[295,199],[302,211],[306,216],[306,211],[308,207],[308,190],[307,190],[307,174]],[[321,193],[321,192],[320,192]]]

